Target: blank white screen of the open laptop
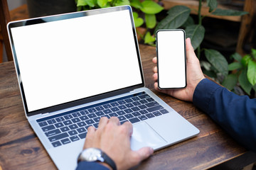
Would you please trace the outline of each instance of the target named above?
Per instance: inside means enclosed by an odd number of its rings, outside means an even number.
[[[11,28],[28,112],[143,83],[131,11],[96,11]]]

